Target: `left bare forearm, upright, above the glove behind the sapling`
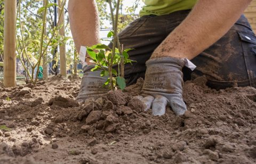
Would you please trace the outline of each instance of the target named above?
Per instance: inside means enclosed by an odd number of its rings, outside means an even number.
[[[81,46],[100,42],[98,9],[94,0],[70,0],[68,3],[70,29],[79,52]]]

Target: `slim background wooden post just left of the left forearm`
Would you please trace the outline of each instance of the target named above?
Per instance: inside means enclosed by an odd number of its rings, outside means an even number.
[[[65,11],[63,10],[63,13],[61,14],[61,9],[60,7],[65,7],[63,6],[64,0],[58,0],[58,15],[59,15],[59,24],[58,26],[62,26],[59,29],[59,34],[62,37],[65,37]],[[60,17],[61,15],[61,17]],[[67,77],[67,60],[66,60],[66,42],[62,43],[60,46],[60,75]]]

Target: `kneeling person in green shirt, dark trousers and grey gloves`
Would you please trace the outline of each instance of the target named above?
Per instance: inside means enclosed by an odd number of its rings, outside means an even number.
[[[141,17],[123,29],[119,39],[124,48],[134,48],[129,55],[137,61],[125,65],[127,84],[145,79],[138,98],[154,115],[163,115],[166,105],[178,116],[185,113],[183,80],[205,76],[207,85],[215,89],[256,87],[256,37],[243,15],[251,0],[144,2]],[[77,50],[99,43],[95,1],[69,1],[68,11]],[[195,70],[185,67],[188,60],[197,66]],[[87,63],[79,102],[107,92],[99,87],[107,77],[91,72],[93,63]]]

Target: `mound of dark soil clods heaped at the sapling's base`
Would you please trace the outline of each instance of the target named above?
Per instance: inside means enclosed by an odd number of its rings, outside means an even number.
[[[95,129],[105,130],[106,133],[116,132],[118,134],[141,127],[145,122],[146,113],[141,113],[145,108],[144,104],[128,93],[122,91],[110,91],[108,94],[97,100],[87,100],[82,110],[78,113],[77,119],[85,123],[81,128],[84,132],[93,135]]]

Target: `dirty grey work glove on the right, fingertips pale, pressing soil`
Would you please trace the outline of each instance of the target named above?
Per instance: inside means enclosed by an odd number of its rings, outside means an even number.
[[[178,58],[157,58],[146,62],[147,70],[142,87],[141,101],[152,107],[154,116],[165,114],[166,105],[171,106],[178,116],[187,110],[182,99],[183,73],[185,61]]]

